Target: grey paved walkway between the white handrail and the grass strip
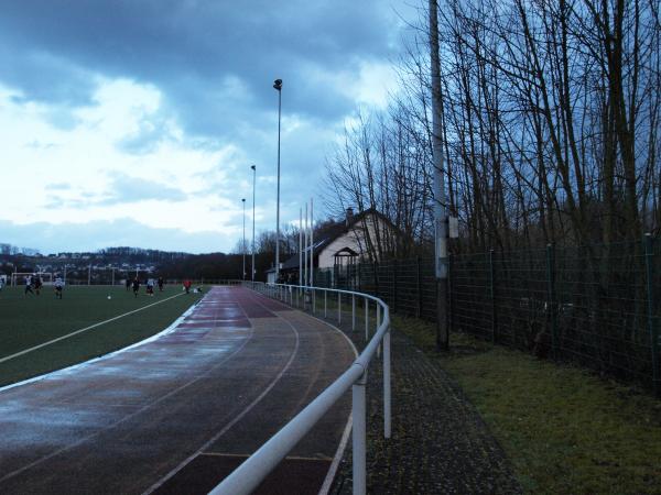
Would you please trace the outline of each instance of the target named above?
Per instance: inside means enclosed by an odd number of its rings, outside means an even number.
[[[343,328],[360,349],[364,332]],[[383,439],[381,360],[368,373],[368,493],[521,493],[502,449],[458,385],[397,328],[391,339],[390,440]],[[350,443],[332,493],[351,493]]]

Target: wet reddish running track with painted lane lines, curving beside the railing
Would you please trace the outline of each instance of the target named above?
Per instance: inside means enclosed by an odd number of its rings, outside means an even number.
[[[353,360],[318,320],[216,287],[172,332],[1,391],[0,493],[205,493]],[[348,399],[292,457],[335,454]]]

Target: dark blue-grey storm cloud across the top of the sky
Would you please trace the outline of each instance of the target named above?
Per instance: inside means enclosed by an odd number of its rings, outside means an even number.
[[[337,118],[353,103],[323,74],[386,56],[389,22],[382,0],[6,1],[0,78],[25,99],[69,106],[89,103],[88,73],[154,84],[188,132],[214,134],[263,120],[280,77],[289,112]]]

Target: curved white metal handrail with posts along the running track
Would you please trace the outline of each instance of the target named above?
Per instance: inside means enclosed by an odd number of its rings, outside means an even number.
[[[355,298],[362,297],[365,300],[366,340],[368,339],[369,301],[375,301],[377,311],[377,328],[375,336],[369,341],[358,359],[345,371],[339,378],[333,382],[301,413],[289,421],[278,433],[271,437],[239,468],[227,476],[218,486],[209,492],[210,495],[242,495],[250,494],[268,476],[268,474],[286,457],[296,443],[316,425],[316,422],[333,407],[345,392],[353,388],[351,416],[353,416],[353,477],[354,494],[365,495],[367,488],[366,476],[366,383],[369,362],[377,353],[380,344],[383,344],[383,437],[390,438],[391,432],[391,394],[390,394],[390,312],[388,305],[378,297],[369,294],[355,293],[351,290],[339,290],[324,287],[303,287],[296,285],[264,284],[259,282],[245,282],[245,286],[279,298],[294,306],[294,293],[296,293],[296,306],[307,307],[311,305],[313,314],[316,311],[316,294],[324,293],[324,310],[326,311],[327,294],[334,293],[338,296],[338,321],[342,318],[342,297],[351,296],[351,321],[355,329],[356,305]],[[310,300],[306,300],[310,296]],[[382,317],[381,317],[382,315]]]

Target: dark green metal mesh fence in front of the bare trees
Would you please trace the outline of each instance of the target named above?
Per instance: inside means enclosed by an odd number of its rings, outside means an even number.
[[[366,292],[393,312],[434,320],[432,258],[315,272],[315,285]],[[451,328],[654,386],[661,240],[452,255]]]

